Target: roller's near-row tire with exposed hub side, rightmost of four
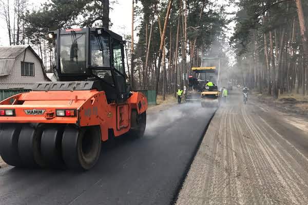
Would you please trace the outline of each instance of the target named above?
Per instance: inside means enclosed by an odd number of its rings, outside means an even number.
[[[69,169],[89,170],[101,152],[101,131],[98,126],[78,129],[67,126],[62,137],[62,156]]]

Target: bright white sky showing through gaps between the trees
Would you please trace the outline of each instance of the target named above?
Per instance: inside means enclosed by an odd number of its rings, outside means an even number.
[[[109,13],[109,17],[111,19],[111,23],[113,24],[110,30],[114,31],[115,33],[119,33],[120,35],[123,34],[130,34],[131,33],[131,0],[117,0],[118,4],[111,4]],[[11,1],[13,2],[13,1]],[[40,5],[47,0],[29,0],[29,9],[32,8],[36,9],[39,8]],[[111,1],[110,1],[111,2]],[[219,4],[225,4],[227,0],[218,0]],[[234,7],[227,8],[227,11],[235,11]],[[136,20],[135,20],[136,21]],[[138,20],[135,23],[135,27],[138,25]],[[232,35],[234,24],[229,25],[230,30],[227,36]],[[0,46],[7,46],[9,45],[8,40],[8,32],[6,28],[6,23],[4,19],[0,19]],[[137,32],[134,32],[134,36],[136,38]],[[136,38],[137,39],[137,38]]]

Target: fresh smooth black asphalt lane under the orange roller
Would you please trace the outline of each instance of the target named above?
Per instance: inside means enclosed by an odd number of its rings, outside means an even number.
[[[87,172],[0,169],[0,204],[170,204],[214,112],[197,103],[149,113],[143,138],[103,146]]]

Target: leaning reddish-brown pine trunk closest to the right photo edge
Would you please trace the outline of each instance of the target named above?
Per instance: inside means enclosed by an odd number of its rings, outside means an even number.
[[[302,40],[302,46],[303,46],[303,56],[304,56],[304,69],[307,69],[308,65],[308,42],[307,42],[307,30],[305,25],[305,17],[304,12],[301,4],[301,0],[295,0],[296,8],[297,8],[297,14],[298,14],[298,20],[299,20],[299,26],[300,26],[300,36]],[[303,73],[304,74],[304,73]],[[305,94],[305,89],[303,88],[303,94]]]

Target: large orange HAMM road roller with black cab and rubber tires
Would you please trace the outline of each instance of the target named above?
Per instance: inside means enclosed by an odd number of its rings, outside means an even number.
[[[143,136],[147,99],[126,85],[120,35],[83,28],[48,36],[58,81],[0,102],[0,155],[15,167],[89,170],[102,141]]]

